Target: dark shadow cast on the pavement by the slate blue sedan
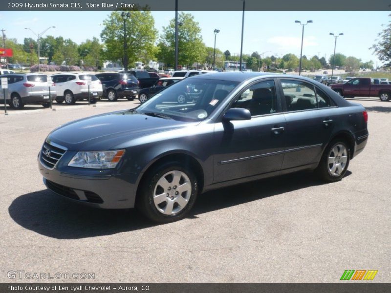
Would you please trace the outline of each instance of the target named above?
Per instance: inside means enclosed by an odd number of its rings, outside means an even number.
[[[346,176],[351,174],[349,171]],[[281,184],[284,182],[284,184]],[[208,191],[198,196],[187,218],[251,201],[325,184],[306,172]],[[58,239],[79,239],[140,230],[151,223],[136,209],[94,209],[73,203],[44,189],[16,198],[8,208],[11,218],[23,228]]]

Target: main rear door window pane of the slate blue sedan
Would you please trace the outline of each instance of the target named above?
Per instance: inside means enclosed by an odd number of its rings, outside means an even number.
[[[281,85],[287,111],[317,108],[315,89],[312,84],[297,80],[282,80]]]

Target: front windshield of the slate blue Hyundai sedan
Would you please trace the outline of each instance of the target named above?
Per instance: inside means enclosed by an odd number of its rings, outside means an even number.
[[[232,81],[185,79],[166,87],[135,111],[179,121],[202,121],[238,84]]]

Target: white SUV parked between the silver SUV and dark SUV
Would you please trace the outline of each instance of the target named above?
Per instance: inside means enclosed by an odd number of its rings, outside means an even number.
[[[76,101],[88,101],[87,77],[91,77],[89,86],[89,98],[92,104],[102,96],[103,89],[101,81],[93,74],[89,73],[57,73],[52,75],[52,81],[56,84],[57,103],[73,105]]]

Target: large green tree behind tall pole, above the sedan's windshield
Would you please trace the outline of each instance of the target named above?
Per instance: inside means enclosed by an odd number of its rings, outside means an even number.
[[[205,45],[202,42],[201,29],[194,16],[181,12],[178,16],[181,23],[178,30],[178,64],[191,66],[202,62],[205,58]],[[174,63],[175,58],[175,19],[168,26],[163,27],[163,34],[158,44],[158,56],[164,63]],[[159,59],[160,59],[159,58]]]

